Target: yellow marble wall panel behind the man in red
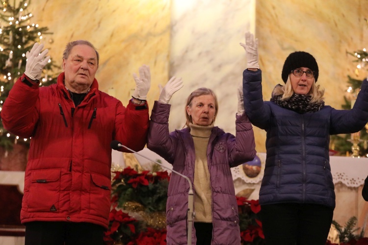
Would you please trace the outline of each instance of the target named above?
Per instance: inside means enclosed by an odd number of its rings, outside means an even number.
[[[69,41],[85,39],[98,49],[100,89],[115,94],[124,105],[135,88],[132,73],[149,65],[152,107],[158,83],[168,80],[170,0],[37,0],[29,9],[31,22],[53,32],[42,42],[56,64],[61,65]]]

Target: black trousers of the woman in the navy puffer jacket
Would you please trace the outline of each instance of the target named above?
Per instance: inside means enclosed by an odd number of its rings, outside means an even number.
[[[325,245],[334,210],[318,204],[262,205],[266,245]]]

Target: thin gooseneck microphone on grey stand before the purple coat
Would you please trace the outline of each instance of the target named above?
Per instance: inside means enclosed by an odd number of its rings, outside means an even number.
[[[122,145],[117,140],[111,141],[110,147],[114,150],[118,150],[119,148],[124,147],[124,148],[130,150],[131,152],[133,152],[133,153],[135,153],[135,154],[137,154],[137,155],[139,155],[143,158],[146,158],[147,160],[150,160],[151,162],[154,162],[154,163],[158,164],[162,168],[167,169],[171,172],[174,172],[174,173],[182,176],[184,179],[186,179],[188,181],[188,183],[189,183],[189,192],[188,192],[188,210],[187,210],[187,221],[188,221],[187,245],[191,245],[192,244],[193,217],[195,216],[195,214],[193,213],[193,188],[192,188],[192,182],[190,182],[190,179],[187,176],[185,176],[184,174],[181,174],[180,172],[177,172],[173,169],[167,168],[165,165],[163,165],[161,163],[158,163],[157,161],[154,161],[154,160],[150,159],[149,157],[146,157],[146,156],[132,150],[131,148]]]

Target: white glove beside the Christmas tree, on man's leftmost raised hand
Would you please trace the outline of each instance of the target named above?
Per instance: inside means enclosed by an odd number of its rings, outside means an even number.
[[[43,44],[35,43],[32,49],[26,52],[27,62],[25,74],[32,80],[40,80],[42,69],[46,66],[47,62],[50,60],[50,56],[46,56],[49,49],[45,49]]]

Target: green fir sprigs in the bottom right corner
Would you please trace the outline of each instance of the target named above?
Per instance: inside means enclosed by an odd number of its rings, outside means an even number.
[[[340,243],[348,243],[350,241],[358,241],[359,239],[364,238],[364,231],[362,230],[358,235],[356,233],[360,228],[355,228],[358,219],[353,216],[346,223],[345,226],[342,227],[338,222],[332,221],[335,225],[336,230],[339,232]]]

